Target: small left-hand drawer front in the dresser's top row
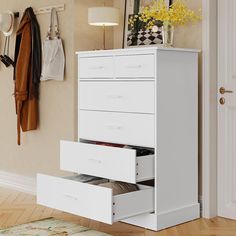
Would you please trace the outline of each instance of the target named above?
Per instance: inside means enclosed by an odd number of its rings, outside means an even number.
[[[113,78],[112,57],[88,57],[79,59],[80,79]]]

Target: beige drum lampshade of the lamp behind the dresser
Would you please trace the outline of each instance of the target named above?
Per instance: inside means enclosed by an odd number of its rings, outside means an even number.
[[[115,7],[91,7],[88,9],[88,23],[94,26],[119,25],[119,9]]]

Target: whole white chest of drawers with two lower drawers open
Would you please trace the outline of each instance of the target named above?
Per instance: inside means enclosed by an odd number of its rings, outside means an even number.
[[[113,196],[111,189],[39,174],[38,203],[153,230],[198,218],[198,52],[79,52],[78,71],[80,139],[61,142],[60,168],[137,183],[139,191]]]

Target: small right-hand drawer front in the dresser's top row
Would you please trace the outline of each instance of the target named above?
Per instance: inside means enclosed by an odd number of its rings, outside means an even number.
[[[154,78],[154,55],[132,55],[115,57],[117,78]]]

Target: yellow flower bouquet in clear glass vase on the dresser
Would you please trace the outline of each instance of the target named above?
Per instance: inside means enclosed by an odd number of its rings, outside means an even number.
[[[145,28],[155,29],[157,22],[163,23],[163,44],[172,46],[174,26],[184,25],[188,22],[201,20],[201,13],[189,9],[184,0],[175,0],[169,7],[164,0],[153,0],[149,6],[143,7],[138,15],[129,19],[129,24],[134,26],[135,22],[141,21]]]

